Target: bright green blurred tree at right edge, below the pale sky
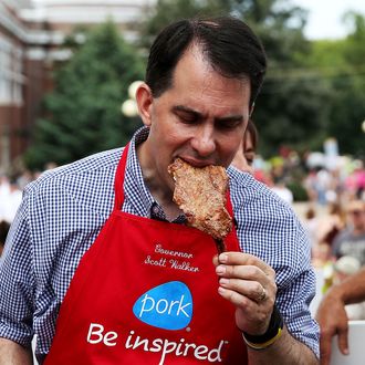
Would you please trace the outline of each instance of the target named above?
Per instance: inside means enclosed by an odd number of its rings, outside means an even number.
[[[341,154],[365,155],[365,19],[354,12],[345,14],[352,27],[342,40],[316,41],[304,61],[306,72],[316,75],[316,84],[328,90],[321,108],[328,111],[323,135],[335,137]]]

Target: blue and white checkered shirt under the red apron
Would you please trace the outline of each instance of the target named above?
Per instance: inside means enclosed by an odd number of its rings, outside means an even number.
[[[122,209],[165,219],[144,185],[135,152],[147,134],[142,128],[132,139]],[[38,358],[49,352],[80,259],[113,209],[121,155],[117,148],[45,171],[24,189],[0,267],[0,336],[30,346],[36,334]],[[289,331],[319,355],[319,327],[309,311],[315,277],[303,228],[291,208],[249,174],[229,167],[228,175],[242,251],[275,270],[277,304]]]

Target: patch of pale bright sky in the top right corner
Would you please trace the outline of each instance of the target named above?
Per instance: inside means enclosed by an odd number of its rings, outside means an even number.
[[[347,10],[365,15],[364,0],[292,0],[292,3],[310,10],[305,34],[309,39],[338,39],[350,31],[341,18]]]

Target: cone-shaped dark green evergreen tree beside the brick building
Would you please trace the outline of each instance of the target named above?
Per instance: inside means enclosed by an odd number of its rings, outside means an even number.
[[[124,145],[140,123],[121,113],[129,84],[143,76],[140,58],[112,22],[84,34],[81,45],[67,40],[74,54],[55,71],[55,87],[44,100],[25,155],[31,168]]]

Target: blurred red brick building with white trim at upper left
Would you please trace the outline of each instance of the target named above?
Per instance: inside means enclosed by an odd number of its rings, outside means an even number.
[[[75,25],[93,27],[106,19],[126,40],[155,0],[0,0],[0,171],[17,165],[30,143],[40,102],[52,88],[55,61]]]

